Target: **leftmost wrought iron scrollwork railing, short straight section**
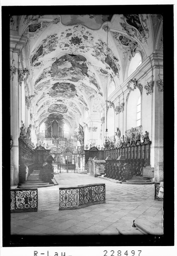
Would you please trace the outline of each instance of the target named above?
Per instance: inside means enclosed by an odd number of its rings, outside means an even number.
[[[11,189],[11,212],[35,212],[38,210],[38,189]]]

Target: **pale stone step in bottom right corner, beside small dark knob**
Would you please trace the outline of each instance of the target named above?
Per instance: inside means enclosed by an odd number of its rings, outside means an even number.
[[[158,226],[156,226],[154,223],[146,220],[137,218],[135,220],[136,228],[141,231],[145,235],[163,235],[164,230]]]

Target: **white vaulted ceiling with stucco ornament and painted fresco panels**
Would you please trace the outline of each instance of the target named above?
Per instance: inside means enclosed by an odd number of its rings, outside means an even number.
[[[160,20],[145,14],[22,16],[19,34],[29,40],[39,124],[57,117],[72,126],[85,111],[98,114],[107,78],[118,88],[135,53],[144,61],[153,52]]]

